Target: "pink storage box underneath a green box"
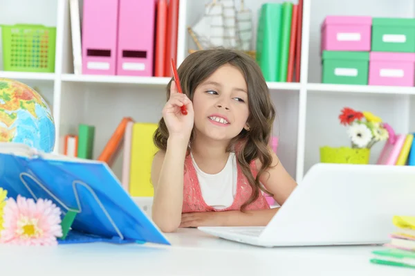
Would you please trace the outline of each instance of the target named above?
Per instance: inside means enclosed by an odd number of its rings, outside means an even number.
[[[369,85],[414,86],[415,53],[371,52]]]

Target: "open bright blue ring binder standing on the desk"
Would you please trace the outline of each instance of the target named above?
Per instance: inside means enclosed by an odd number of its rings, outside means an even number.
[[[39,153],[15,143],[0,144],[0,187],[8,191],[8,197],[16,199],[20,194],[35,201],[50,199],[63,215],[69,210],[77,212],[71,231],[59,243],[170,245],[106,163]],[[24,154],[14,154],[17,151]]]

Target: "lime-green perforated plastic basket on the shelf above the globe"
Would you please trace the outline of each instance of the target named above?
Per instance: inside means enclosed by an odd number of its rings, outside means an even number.
[[[1,25],[1,33],[4,71],[55,72],[55,27]]]

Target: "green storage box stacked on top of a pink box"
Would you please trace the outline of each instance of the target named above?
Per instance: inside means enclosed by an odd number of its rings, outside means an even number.
[[[374,18],[372,24],[372,51],[415,52],[415,19]]]

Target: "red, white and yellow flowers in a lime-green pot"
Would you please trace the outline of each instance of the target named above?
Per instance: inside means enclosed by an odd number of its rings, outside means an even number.
[[[339,115],[340,124],[347,127],[350,147],[321,147],[322,163],[368,164],[370,149],[376,142],[394,139],[393,129],[369,111],[355,111],[344,107]]]

